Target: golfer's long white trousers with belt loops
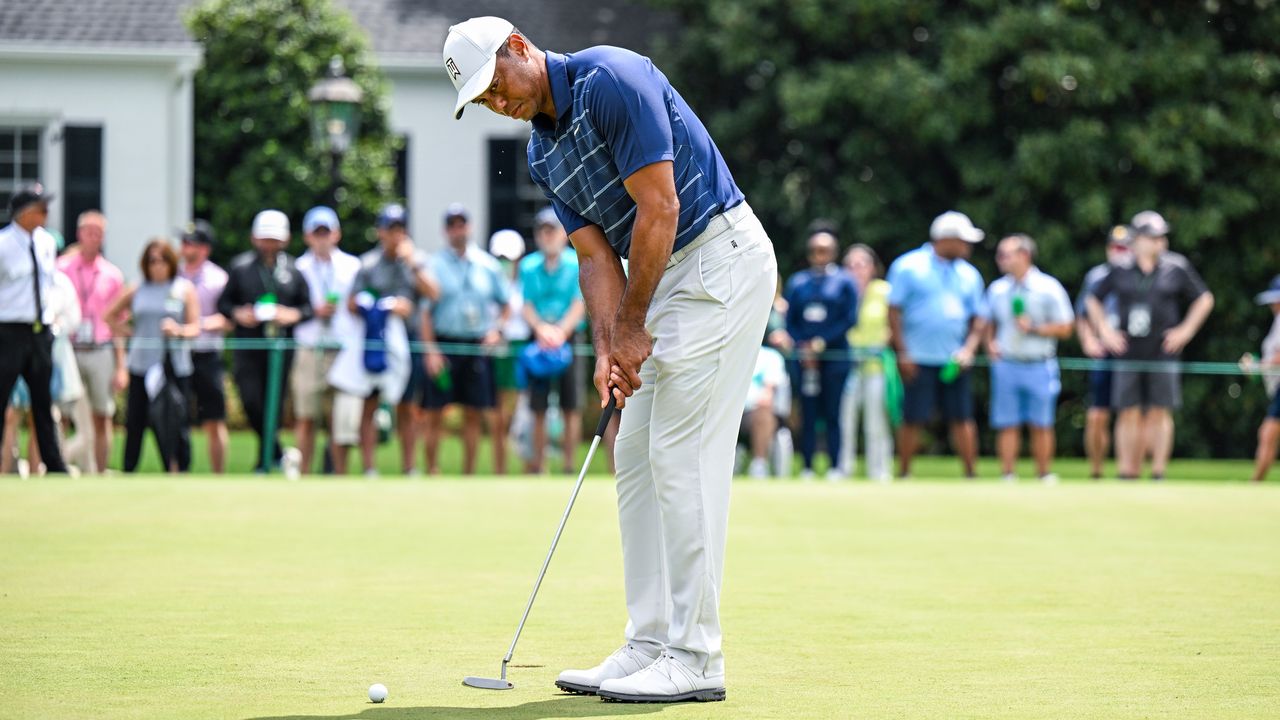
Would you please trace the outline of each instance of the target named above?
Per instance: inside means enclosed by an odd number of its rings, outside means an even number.
[[[733,224],[668,265],[654,292],[645,322],[653,355],[614,446],[627,641],[707,675],[724,673],[719,593],[733,451],[777,283],[760,222],[745,204],[726,215]]]

